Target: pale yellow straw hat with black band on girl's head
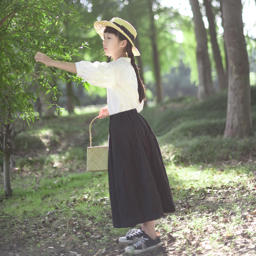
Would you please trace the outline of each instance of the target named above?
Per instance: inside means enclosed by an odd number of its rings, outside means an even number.
[[[104,40],[103,33],[104,33],[104,30],[106,27],[115,28],[120,33],[122,33],[124,36],[126,36],[127,39],[132,44],[132,52],[133,52],[134,56],[140,56],[140,52],[133,44],[134,39],[137,36],[137,32],[136,32],[135,28],[133,28],[129,22],[122,20],[120,18],[113,18],[110,21],[107,21],[107,20],[96,21],[94,23],[94,28],[95,28],[96,32],[100,35],[102,40]]]

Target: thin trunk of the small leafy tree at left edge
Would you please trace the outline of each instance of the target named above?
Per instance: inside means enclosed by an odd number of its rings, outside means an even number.
[[[13,143],[8,141],[10,124],[5,126],[3,153],[4,153],[4,195],[12,196],[11,173],[10,173],[10,157],[13,153]]]

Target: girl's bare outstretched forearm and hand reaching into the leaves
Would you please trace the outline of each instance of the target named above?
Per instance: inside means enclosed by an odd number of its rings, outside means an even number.
[[[69,63],[69,62],[64,62],[64,61],[59,61],[59,60],[52,60],[49,58],[47,55],[45,55],[42,52],[37,52],[35,56],[36,62],[41,62],[48,67],[55,67],[55,68],[60,68],[63,70],[66,70],[68,72],[72,73],[77,73],[76,71],[76,64],[75,63]]]

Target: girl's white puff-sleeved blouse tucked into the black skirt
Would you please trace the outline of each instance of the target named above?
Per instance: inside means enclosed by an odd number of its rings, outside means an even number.
[[[107,88],[108,113],[136,108],[140,112],[144,101],[139,102],[138,82],[131,59],[121,57],[111,62],[76,62],[77,76],[89,84]]]

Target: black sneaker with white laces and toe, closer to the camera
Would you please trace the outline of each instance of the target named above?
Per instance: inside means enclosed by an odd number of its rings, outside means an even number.
[[[136,244],[126,247],[125,252],[137,254],[156,249],[156,247],[160,246],[161,244],[162,243],[159,236],[157,236],[156,240],[153,240],[147,234],[145,234],[138,240]]]

